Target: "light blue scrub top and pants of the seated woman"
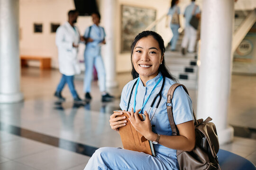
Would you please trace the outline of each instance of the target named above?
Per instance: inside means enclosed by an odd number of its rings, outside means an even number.
[[[136,110],[140,109],[146,100],[147,96],[152,91],[156,82],[161,77],[159,73],[155,78],[148,80],[146,86],[139,80],[137,97],[136,97]],[[121,95],[120,107],[122,110],[127,109],[128,98],[131,92],[131,88],[137,78],[130,81],[123,88]],[[148,102],[146,103],[142,113],[149,110],[151,102],[155,95],[159,93],[163,80],[156,86],[155,90],[151,94]],[[170,78],[165,78],[165,85],[162,91],[162,100],[159,104],[158,110],[155,112],[155,116],[151,120],[153,132],[160,135],[172,135],[172,129],[169,123],[166,101],[167,93],[174,81]],[[129,111],[131,110],[134,102],[133,90],[131,101],[129,104]],[[174,92],[173,98],[173,114],[176,124],[181,124],[190,120],[193,120],[192,101],[189,95],[184,91],[183,87],[179,86]],[[155,102],[156,104],[156,102]],[[155,105],[154,105],[155,107]],[[148,113],[151,118],[153,110]],[[88,161],[84,170],[178,170],[179,165],[176,156],[176,150],[165,147],[161,144],[154,144],[155,157],[146,153],[139,153],[135,151],[129,151],[122,148],[103,147],[98,149]]]

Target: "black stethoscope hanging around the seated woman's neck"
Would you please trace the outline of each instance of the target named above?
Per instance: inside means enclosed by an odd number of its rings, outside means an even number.
[[[139,77],[138,77],[138,78],[139,78]],[[131,92],[130,92],[130,97],[129,97],[128,104],[127,104],[127,109],[126,109],[127,111],[128,111],[128,109],[129,109],[129,105],[130,105],[130,101],[131,101],[132,92],[133,92],[133,89],[134,89],[134,87],[135,87],[136,84],[137,84],[137,81],[135,81],[135,83],[134,83],[133,86],[132,86],[132,89],[131,89]],[[160,91],[155,95],[155,98],[154,98],[154,100],[152,101],[152,103],[151,103],[151,105],[150,105],[150,108],[149,108],[149,110],[148,110],[148,113],[150,113],[150,110],[153,108],[156,99],[159,97],[159,98],[158,98],[158,101],[157,101],[157,103],[156,103],[156,105],[155,105],[155,110],[154,110],[154,112],[153,112],[153,115],[152,115],[152,117],[150,118],[150,121],[153,119],[153,117],[154,117],[154,115],[155,115],[155,112],[156,112],[156,110],[157,110],[157,108],[158,108],[158,106],[159,106],[159,104],[160,104],[160,102],[161,102],[161,100],[162,100],[162,94],[161,94],[161,93],[162,93],[162,91],[163,91],[164,85],[165,85],[165,76],[163,76],[163,83],[162,83],[161,89],[160,89]],[[152,127],[155,127],[155,125],[152,125]]]

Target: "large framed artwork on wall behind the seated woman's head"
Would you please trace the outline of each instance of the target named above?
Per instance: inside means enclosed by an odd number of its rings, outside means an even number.
[[[155,21],[156,10],[121,6],[121,52],[129,52],[135,36]]]

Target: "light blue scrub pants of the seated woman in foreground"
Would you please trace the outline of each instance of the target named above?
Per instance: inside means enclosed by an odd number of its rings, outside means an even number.
[[[161,156],[154,157],[122,148],[102,147],[93,153],[84,170],[173,170],[173,168]]]

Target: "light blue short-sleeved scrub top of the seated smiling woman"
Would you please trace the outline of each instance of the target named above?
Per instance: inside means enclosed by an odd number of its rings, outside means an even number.
[[[144,101],[146,100],[147,96],[150,94],[150,92],[152,91],[153,87],[155,86],[156,82],[160,77],[161,77],[161,73],[155,76],[155,78],[148,80],[146,82],[146,86],[144,86],[142,81],[139,80],[135,110],[141,109]],[[137,81],[137,79],[138,78],[135,78],[134,80],[130,81],[123,88],[123,91],[121,94],[121,101],[120,101],[120,108],[122,110],[127,109],[127,104],[128,104],[128,99],[131,93],[131,89],[133,84]],[[160,81],[160,83],[156,86],[155,90],[151,94],[150,98],[148,99],[146,105],[142,110],[142,113],[144,113],[145,110],[148,113],[148,110],[150,108],[150,105],[153,99],[155,98],[155,95],[159,93],[161,89],[162,83],[163,83],[163,79]],[[167,102],[168,90],[171,87],[171,85],[173,85],[174,83],[175,82],[172,79],[165,77],[165,85],[161,93],[162,100],[159,104],[158,109],[155,112],[155,116],[151,120],[151,124],[155,125],[155,127],[152,127],[152,131],[160,135],[172,136],[172,129],[168,119],[166,102]],[[134,103],[135,88],[133,89],[133,92],[132,92],[128,111],[130,111],[131,108],[134,107],[133,103]],[[155,102],[155,104],[156,103],[157,102]],[[176,88],[172,103],[173,103],[173,115],[174,115],[175,124],[178,125],[178,124],[193,120],[192,101],[189,95],[184,91],[182,86],[179,86],[178,88]],[[155,107],[155,104],[153,108]],[[151,109],[150,112],[148,113],[149,118],[152,117],[153,111],[154,109]],[[175,167],[179,167],[177,157],[176,157],[176,150],[165,147],[161,144],[154,144],[154,148],[155,148],[156,157],[160,159],[165,159]]]

